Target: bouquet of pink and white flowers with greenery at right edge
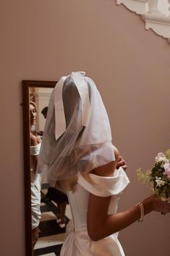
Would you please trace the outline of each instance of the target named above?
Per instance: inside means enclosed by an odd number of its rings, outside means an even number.
[[[170,149],[165,154],[158,153],[152,169],[142,172],[137,169],[138,180],[150,183],[154,193],[163,201],[170,202]]]

